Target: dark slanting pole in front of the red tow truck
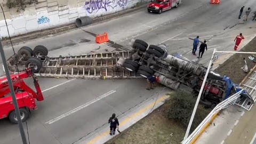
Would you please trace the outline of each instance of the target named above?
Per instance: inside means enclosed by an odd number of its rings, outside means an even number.
[[[20,129],[20,135],[21,135],[21,138],[22,138],[22,142],[23,142],[23,144],[27,144],[25,131],[23,129],[22,122],[21,122],[20,110],[19,110],[19,106],[18,106],[18,103],[17,103],[17,99],[15,97],[15,92],[14,92],[14,89],[13,89],[12,80],[11,80],[10,73],[9,73],[9,68],[7,67],[7,63],[6,63],[6,59],[5,59],[5,55],[4,55],[4,49],[3,49],[3,46],[2,46],[1,40],[0,40],[0,53],[1,53],[2,61],[3,61],[3,65],[4,65],[5,75],[7,77],[7,81],[8,81],[8,84],[9,84],[9,89],[10,89],[11,95],[12,95],[12,101],[13,101],[13,105],[14,105],[14,108],[15,108],[15,114],[16,114],[17,119],[18,119],[18,125],[19,125],[19,129]]]

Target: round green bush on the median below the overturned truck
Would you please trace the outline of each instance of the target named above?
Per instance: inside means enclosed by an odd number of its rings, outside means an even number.
[[[193,94],[182,90],[177,90],[170,94],[170,99],[166,102],[165,111],[167,117],[169,119],[175,119],[184,127],[187,127],[196,103],[196,98],[193,96]],[[191,131],[203,121],[210,111],[211,109],[206,109],[203,106],[198,105]]]

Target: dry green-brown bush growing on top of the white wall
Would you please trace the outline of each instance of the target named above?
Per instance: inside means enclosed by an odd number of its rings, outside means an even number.
[[[7,0],[6,6],[11,8],[17,8],[17,11],[25,10],[27,4],[38,3],[38,0]]]

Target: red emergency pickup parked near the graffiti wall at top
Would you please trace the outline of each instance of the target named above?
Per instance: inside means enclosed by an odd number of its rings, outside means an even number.
[[[153,0],[148,5],[148,12],[154,12],[161,14],[163,11],[172,9],[172,7],[178,8],[181,0]]]

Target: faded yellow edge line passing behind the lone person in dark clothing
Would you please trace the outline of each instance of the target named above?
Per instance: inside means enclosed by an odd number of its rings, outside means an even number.
[[[120,124],[119,126],[122,126],[124,124],[126,124],[127,122],[130,122],[132,118],[138,116],[139,114],[144,113],[146,110],[151,109],[154,105],[156,105],[157,103],[165,100],[169,98],[167,95],[163,95],[161,98],[157,99],[156,102],[151,102],[149,105],[147,105],[146,107],[143,107],[142,109],[140,109],[139,111],[137,111],[135,114],[133,114],[132,116],[129,116],[127,118],[125,118]],[[86,144],[93,144],[95,142],[97,142],[99,139],[101,139],[102,137],[105,137],[107,134],[109,133],[109,131],[105,131],[101,134],[99,134],[97,137],[94,137],[92,140],[90,140],[89,142],[86,142]]]

